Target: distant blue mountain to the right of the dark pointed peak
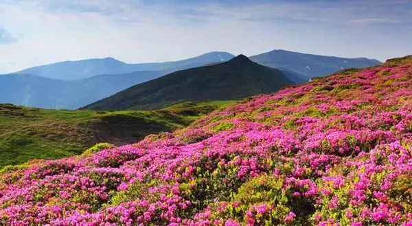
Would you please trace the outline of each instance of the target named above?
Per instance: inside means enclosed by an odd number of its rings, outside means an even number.
[[[347,68],[365,68],[381,64],[378,60],[367,58],[336,58],[282,49],[253,55],[250,59],[264,66],[287,68],[289,71],[305,75],[306,78],[323,77]]]

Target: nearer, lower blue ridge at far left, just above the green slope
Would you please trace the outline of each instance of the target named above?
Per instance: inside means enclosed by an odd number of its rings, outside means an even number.
[[[74,110],[163,74],[162,71],[138,71],[76,81],[37,75],[0,75],[0,103]]]

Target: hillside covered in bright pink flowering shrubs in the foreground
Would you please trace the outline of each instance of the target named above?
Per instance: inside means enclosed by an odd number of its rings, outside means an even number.
[[[5,168],[0,225],[412,225],[411,155],[407,57]]]

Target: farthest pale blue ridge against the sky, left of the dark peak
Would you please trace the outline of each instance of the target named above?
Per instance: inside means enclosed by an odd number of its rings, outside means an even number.
[[[211,52],[186,60],[162,63],[126,64],[113,58],[65,61],[27,68],[13,74],[29,74],[52,79],[76,80],[103,74],[124,74],[134,71],[164,71],[171,73],[214,62],[225,62],[234,55],[227,52]]]

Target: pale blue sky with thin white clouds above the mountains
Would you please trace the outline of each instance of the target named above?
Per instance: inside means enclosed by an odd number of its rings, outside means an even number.
[[[412,1],[0,0],[0,73],[273,49],[385,61],[412,54]]]

